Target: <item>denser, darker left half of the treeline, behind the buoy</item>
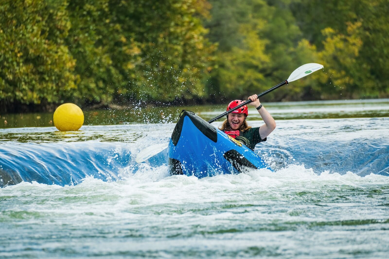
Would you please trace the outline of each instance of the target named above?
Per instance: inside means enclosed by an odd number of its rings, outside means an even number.
[[[0,4],[0,100],[111,103],[204,94],[203,0]]]

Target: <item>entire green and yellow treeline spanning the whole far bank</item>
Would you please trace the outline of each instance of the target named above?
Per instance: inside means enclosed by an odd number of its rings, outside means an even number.
[[[0,1],[0,103],[389,97],[387,0]]]

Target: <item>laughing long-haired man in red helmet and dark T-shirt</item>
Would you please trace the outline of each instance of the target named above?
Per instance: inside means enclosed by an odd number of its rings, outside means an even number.
[[[233,111],[227,115],[227,119],[224,120],[223,124],[219,129],[223,130],[226,134],[233,137],[237,141],[245,144],[251,150],[254,150],[255,145],[259,142],[266,141],[266,137],[275,129],[276,124],[272,115],[266,111],[265,107],[259,102],[258,96],[256,94],[250,96],[252,102],[248,105],[254,106],[259,115],[261,115],[263,124],[261,127],[253,128],[249,126],[246,122],[247,115],[249,115],[247,105],[239,108],[238,110]],[[234,100],[227,106],[227,111],[237,107],[239,104],[243,103],[241,100]]]

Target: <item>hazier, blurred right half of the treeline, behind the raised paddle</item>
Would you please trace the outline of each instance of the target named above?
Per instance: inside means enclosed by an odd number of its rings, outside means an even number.
[[[219,44],[212,80],[247,96],[282,82],[304,63],[324,73],[271,93],[273,100],[389,97],[387,0],[210,0],[205,24]],[[233,95],[230,95],[232,97]]]

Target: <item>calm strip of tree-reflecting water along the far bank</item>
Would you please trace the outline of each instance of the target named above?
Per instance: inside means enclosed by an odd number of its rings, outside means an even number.
[[[304,101],[263,103],[277,119],[367,118],[389,116],[389,99]],[[127,108],[124,110],[84,111],[84,125],[123,125],[138,123],[176,122],[182,110],[191,110],[205,120],[225,111],[225,105],[197,105],[181,107]],[[260,118],[254,107],[249,106],[249,119]],[[52,127],[53,113],[0,114],[0,128]],[[4,122],[7,123],[4,123]]]

